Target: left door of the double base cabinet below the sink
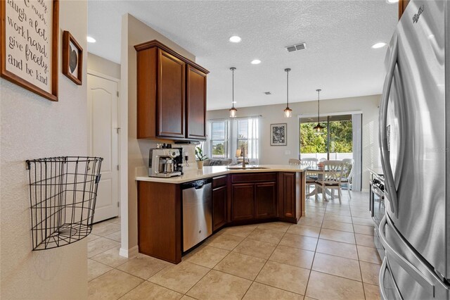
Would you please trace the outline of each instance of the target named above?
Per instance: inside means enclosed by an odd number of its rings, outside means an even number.
[[[248,220],[254,215],[253,184],[239,184],[231,187],[231,220]]]

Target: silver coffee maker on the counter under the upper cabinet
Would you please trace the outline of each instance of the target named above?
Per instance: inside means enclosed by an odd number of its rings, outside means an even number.
[[[148,175],[165,178],[183,175],[183,149],[150,149]]]

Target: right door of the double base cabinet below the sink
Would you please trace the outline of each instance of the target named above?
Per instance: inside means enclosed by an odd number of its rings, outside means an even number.
[[[256,218],[274,218],[276,216],[276,183],[255,184]]]

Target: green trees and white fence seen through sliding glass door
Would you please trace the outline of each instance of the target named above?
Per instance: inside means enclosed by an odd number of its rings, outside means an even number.
[[[313,127],[317,118],[300,118],[300,158],[353,158],[352,115],[322,116],[323,132],[317,135]]]

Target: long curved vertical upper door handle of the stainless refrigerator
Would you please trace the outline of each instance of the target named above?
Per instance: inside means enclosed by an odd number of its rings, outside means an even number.
[[[389,103],[389,96],[391,92],[392,79],[394,78],[395,65],[397,65],[397,37],[394,39],[394,44],[392,46],[392,56],[390,59],[389,68],[387,68],[387,75],[385,78],[385,83],[383,85],[383,95],[381,96],[380,104],[380,158],[381,166],[383,168],[383,173],[385,175],[385,188],[387,195],[389,196],[389,203],[391,206],[391,211],[398,217],[398,201],[397,201],[397,190],[395,189],[394,175],[392,174],[392,168],[390,164],[389,150],[387,149],[387,104]]]

